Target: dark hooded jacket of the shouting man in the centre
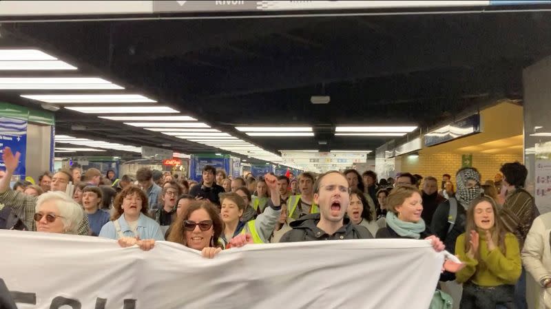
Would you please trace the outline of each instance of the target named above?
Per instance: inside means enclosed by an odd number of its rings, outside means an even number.
[[[343,225],[333,235],[325,233],[318,228],[320,222],[320,213],[305,215],[299,220],[289,224],[291,231],[281,237],[280,242],[309,242],[312,240],[336,240],[336,239],[372,239],[373,235],[369,233],[365,226],[353,224],[348,216],[344,216]]]

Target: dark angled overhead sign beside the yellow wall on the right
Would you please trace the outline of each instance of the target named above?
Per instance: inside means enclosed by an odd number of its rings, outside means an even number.
[[[425,134],[425,146],[434,146],[481,132],[481,116],[475,114]]]

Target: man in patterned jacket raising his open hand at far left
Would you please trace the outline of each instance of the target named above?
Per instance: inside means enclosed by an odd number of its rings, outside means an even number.
[[[10,180],[19,165],[20,156],[21,153],[19,152],[14,155],[10,147],[5,147],[3,150],[2,158],[6,165],[6,176],[0,180],[0,204],[10,207],[13,213],[17,213],[19,219],[29,231],[37,231],[37,222],[34,221],[37,197],[10,190]],[[54,174],[50,188],[52,191],[65,192],[70,181],[72,181],[71,172],[63,169]],[[83,220],[79,224],[79,235],[90,235],[90,225],[88,224],[88,217],[85,215],[83,215]]]

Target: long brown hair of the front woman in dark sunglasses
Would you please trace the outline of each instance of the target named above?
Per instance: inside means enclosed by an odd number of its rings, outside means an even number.
[[[168,242],[176,242],[177,244],[183,244],[184,246],[187,246],[184,231],[184,221],[188,220],[191,213],[194,213],[194,211],[198,209],[205,209],[212,220],[212,229],[214,231],[214,235],[211,239],[210,245],[214,247],[222,246],[218,239],[220,238],[220,235],[222,235],[224,224],[222,222],[222,219],[220,219],[220,215],[218,215],[218,209],[216,209],[216,207],[209,201],[191,202],[185,213],[176,217],[176,220],[171,224],[170,234],[167,237]]]

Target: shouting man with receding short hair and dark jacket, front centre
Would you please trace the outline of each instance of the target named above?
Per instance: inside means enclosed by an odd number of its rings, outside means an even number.
[[[349,217],[345,217],[350,188],[342,173],[329,171],[320,175],[313,185],[313,202],[320,205],[320,213],[291,222],[293,229],[285,233],[280,242],[373,238],[366,227],[352,224]]]

